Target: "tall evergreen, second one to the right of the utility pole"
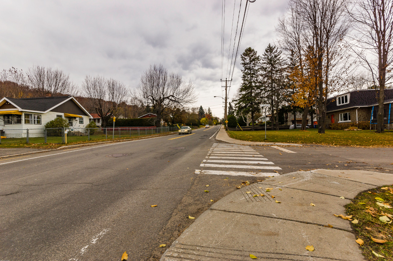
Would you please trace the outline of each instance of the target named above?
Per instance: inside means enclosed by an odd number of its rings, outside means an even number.
[[[286,97],[285,62],[281,58],[281,51],[276,46],[269,44],[262,56],[261,63],[263,91],[272,112],[272,129],[274,122],[276,130],[279,130],[278,112]]]

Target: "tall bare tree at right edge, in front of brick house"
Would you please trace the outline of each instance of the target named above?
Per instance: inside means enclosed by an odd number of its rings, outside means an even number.
[[[371,73],[378,100],[376,132],[384,132],[384,90],[393,74],[393,1],[358,0],[349,11],[357,34],[355,53]]]

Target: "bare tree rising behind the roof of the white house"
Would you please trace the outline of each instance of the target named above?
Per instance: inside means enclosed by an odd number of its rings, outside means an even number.
[[[70,74],[61,69],[33,65],[27,72],[28,83],[40,96],[50,92],[52,96],[77,95],[77,85],[70,80]]]

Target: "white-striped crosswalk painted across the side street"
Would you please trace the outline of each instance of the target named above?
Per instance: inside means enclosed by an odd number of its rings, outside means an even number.
[[[200,167],[195,173],[231,176],[273,177],[281,170],[250,146],[226,143],[214,143]]]

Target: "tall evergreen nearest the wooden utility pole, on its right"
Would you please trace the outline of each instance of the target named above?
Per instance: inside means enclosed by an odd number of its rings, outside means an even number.
[[[257,52],[248,47],[240,56],[243,66],[242,83],[239,88],[239,96],[235,101],[238,111],[251,113],[252,130],[254,130],[254,114],[261,110],[260,96],[260,72],[261,72],[261,56]]]

